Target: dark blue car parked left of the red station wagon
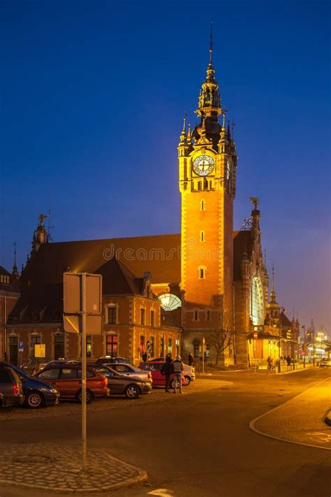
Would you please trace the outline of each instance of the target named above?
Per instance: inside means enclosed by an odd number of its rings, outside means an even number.
[[[28,408],[36,409],[43,407],[43,405],[59,403],[59,390],[52,385],[31,377],[29,373],[26,373],[13,364],[0,362],[0,368],[1,366],[12,368],[19,375],[25,396],[24,405]]]

